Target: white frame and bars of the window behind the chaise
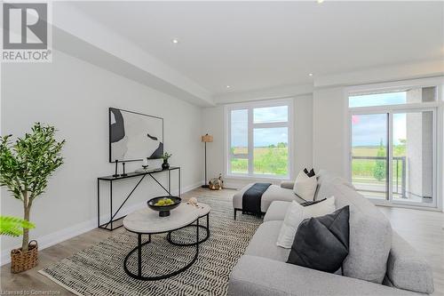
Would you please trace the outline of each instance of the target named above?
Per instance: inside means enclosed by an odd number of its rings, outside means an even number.
[[[224,176],[230,179],[250,179],[250,180],[291,180],[293,178],[293,98],[279,99],[279,100],[260,100],[251,101],[245,103],[235,103],[225,106],[225,153],[224,153]],[[271,108],[287,106],[288,117],[286,122],[274,122],[274,123],[258,123],[254,124],[253,109],[255,108]],[[231,111],[238,109],[248,110],[248,153],[241,156],[233,156],[231,154]],[[274,174],[258,174],[254,173],[254,129],[255,128],[275,128],[275,127],[287,127],[288,128],[288,173],[287,175],[274,175]],[[231,160],[232,159],[248,159],[248,172],[237,173],[231,172]]]

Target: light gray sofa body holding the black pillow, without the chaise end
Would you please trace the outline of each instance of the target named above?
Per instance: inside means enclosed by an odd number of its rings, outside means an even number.
[[[228,295],[418,295],[433,292],[432,270],[377,207],[341,178],[321,171],[315,199],[335,196],[350,205],[350,250],[336,274],[286,263],[276,245],[289,201],[274,201],[237,262]],[[292,188],[283,184],[283,188]],[[288,189],[289,190],[289,189]]]

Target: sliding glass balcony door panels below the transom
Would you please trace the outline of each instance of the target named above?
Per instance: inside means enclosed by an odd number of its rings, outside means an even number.
[[[351,177],[363,196],[434,206],[435,109],[351,114]]]

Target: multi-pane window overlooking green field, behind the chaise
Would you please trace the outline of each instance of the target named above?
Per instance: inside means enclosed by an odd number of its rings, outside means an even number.
[[[227,174],[288,179],[291,114],[291,100],[227,106]]]

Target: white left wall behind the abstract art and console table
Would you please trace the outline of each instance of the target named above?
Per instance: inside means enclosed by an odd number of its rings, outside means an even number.
[[[31,211],[36,223],[31,238],[38,238],[41,246],[96,227],[96,180],[114,170],[107,162],[109,107],[162,116],[165,151],[173,155],[170,164],[182,167],[182,188],[202,182],[201,108],[61,52],[54,52],[52,63],[3,64],[1,133],[20,136],[34,122],[41,122],[55,125],[59,138],[67,140],[62,152],[65,164],[54,173],[46,193],[36,199]],[[128,164],[127,169],[140,164]],[[153,166],[160,164],[152,161]],[[131,196],[127,209],[163,194],[154,181],[146,179]],[[115,208],[136,182],[115,183]],[[105,214],[109,212],[107,187],[102,190]],[[1,205],[2,215],[22,216],[22,204],[5,188]],[[19,238],[3,238],[2,257],[7,258],[10,249],[19,245]]]

